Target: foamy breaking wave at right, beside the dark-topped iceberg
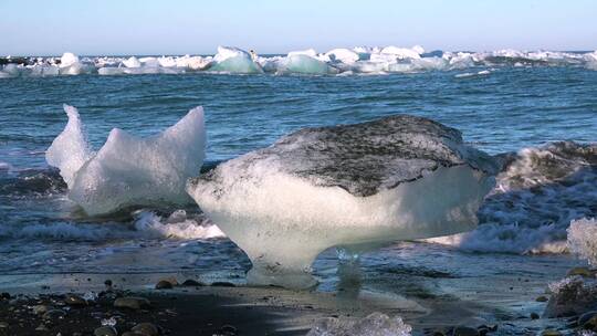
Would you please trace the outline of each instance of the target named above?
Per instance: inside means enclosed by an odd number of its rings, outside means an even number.
[[[479,252],[562,253],[570,222],[597,216],[597,144],[553,143],[503,154],[480,224],[426,240]]]

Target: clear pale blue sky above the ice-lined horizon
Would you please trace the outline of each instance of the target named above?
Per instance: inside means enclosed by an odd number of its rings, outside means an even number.
[[[284,53],[421,44],[426,50],[597,49],[597,1],[4,1],[0,54]]]

